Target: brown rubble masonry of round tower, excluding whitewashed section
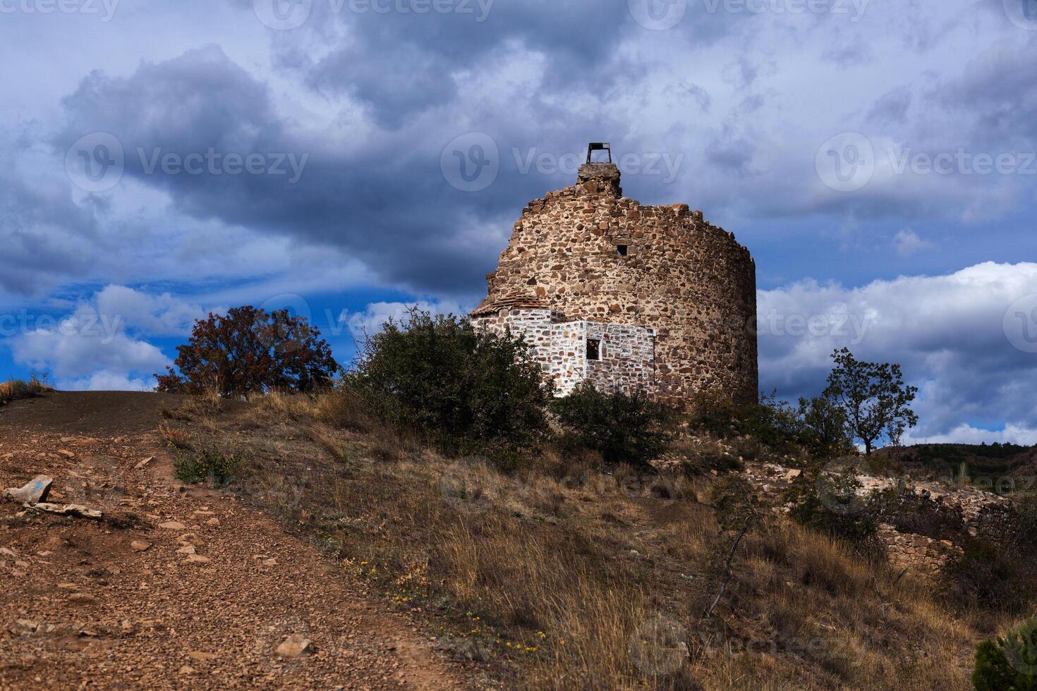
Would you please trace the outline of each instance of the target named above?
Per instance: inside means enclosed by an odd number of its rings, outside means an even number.
[[[648,381],[649,393],[679,406],[702,391],[756,400],[749,251],[686,204],[623,197],[611,164],[584,166],[576,186],[531,202],[486,279],[487,303],[527,294],[568,319],[655,329],[651,376],[632,372],[621,385]]]

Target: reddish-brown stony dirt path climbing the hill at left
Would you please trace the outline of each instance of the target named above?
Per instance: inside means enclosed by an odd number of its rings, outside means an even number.
[[[150,431],[162,401],[146,397],[0,408],[0,487],[47,473],[50,501],[105,513],[20,517],[0,500],[0,688],[466,686],[315,548],[227,494],[178,487]],[[93,425],[106,406],[123,414]],[[279,655],[292,635],[311,651]]]

